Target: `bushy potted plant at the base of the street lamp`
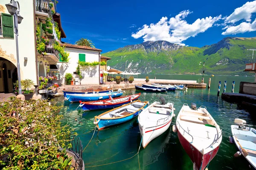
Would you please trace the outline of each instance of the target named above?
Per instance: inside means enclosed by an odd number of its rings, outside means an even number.
[[[31,90],[31,87],[34,86],[34,82],[31,79],[24,79],[20,81],[21,84],[21,93],[25,96],[26,100],[32,99],[33,95],[35,94],[34,90]],[[13,83],[15,85],[15,89],[18,88],[19,84],[18,81]],[[14,91],[15,95],[18,95],[18,90]]]

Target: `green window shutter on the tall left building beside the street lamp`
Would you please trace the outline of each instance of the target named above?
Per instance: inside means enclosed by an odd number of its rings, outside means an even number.
[[[3,37],[14,38],[13,17],[10,14],[2,13]]]

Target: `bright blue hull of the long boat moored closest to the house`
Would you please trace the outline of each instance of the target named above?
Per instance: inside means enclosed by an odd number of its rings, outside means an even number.
[[[114,94],[108,94],[108,95],[102,95],[102,96],[71,96],[69,94],[66,94],[66,98],[70,102],[88,102],[88,101],[97,101],[97,100],[105,100],[109,99],[109,95],[112,98],[122,96],[123,93],[114,93]]]

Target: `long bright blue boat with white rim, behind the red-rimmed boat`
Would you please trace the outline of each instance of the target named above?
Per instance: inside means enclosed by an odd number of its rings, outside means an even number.
[[[70,102],[88,102],[96,100],[105,100],[109,99],[109,96],[112,98],[122,96],[121,91],[107,92],[107,93],[93,93],[93,94],[66,94],[65,100]]]

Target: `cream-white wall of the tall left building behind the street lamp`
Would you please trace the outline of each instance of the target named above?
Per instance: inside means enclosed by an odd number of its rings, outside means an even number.
[[[10,0],[0,0],[0,5],[4,7],[3,13],[9,14],[5,4],[10,3]],[[18,24],[19,36],[19,59],[21,79],[32,79],[36,84],[36,64],[35,64],[35,34],[34,34],[34,6],[33,0],[19,0],[20,15],[23,20]],[[6,51],[6,55],[13,54],[17,61],[16,42],[14,38],[0,37],[0,48]],[[24,60],[27,57],[27,60]],[[17,66],[17,62],[13,62]]]

